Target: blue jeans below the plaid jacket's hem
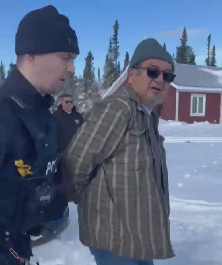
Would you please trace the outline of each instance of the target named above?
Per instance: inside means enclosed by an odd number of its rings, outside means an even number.
[[[153,265],[153,260],[133,260],[118,256],[110,251],[90,246],[89,250],[94,256],[97,265]]]

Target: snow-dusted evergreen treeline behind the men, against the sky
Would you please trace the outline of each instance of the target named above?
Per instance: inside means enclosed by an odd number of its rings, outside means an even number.
[[[77,107],[83,111],[89,110],[96,100],[99,100],[104,92],[116,81],[121,73],[130,63],[130,55],[128,51],[125,53],[123,67],[119,60],[119,22],[116,20],[113,25],[113,34],[109,38],[108,50],[104,58],[103,73],[100,67],[95,74],[94,56],[91,51],[85,57],[85,67],[82,76],[73,75],[65,87],[65,91],[73,95]],[[166,48],[164,42],[163,47]],[[174,57],[174,54],[173,54]],[[188,35],[184,27],[182,37],[180,38],[180,46],[176,47],[176,57],[174,60],[177,63],[196,64],[193,48],[188,45]],[[216,66],[216,48],[215,45],[211,48],[211,34],[207,38],[207,58],[205,59],[207,66]],[[7,71],[7,76],[10,75],[15,65],[10,63]],[[6,78],[5,66],[1,61],[0,65],[0,85]]]

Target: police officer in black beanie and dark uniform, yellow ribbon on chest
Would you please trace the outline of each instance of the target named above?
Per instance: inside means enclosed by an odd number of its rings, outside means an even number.
[[[15,52],[17,67],[0,88],[1,265],[33,264],[30,235],[67,205],[57,205],[62,180],[49,108],[74,73],[79,48],[69,19],[50,5],[20,21]]]

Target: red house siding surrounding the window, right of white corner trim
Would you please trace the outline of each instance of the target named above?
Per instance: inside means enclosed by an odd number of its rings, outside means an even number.
[[[206,95],[206,109],[205,116],[190,116],[191,94],[205,94]],[[179,113],[178,120],[181,122],[210,122],[220,123],[220,93],[191,93],[179,92]]]

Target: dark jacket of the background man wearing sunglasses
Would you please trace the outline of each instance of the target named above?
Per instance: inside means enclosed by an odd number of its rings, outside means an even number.
[[[57,144],[60,152],[69,145],[77,129],[83,124],[83,116],[76,111],[75,106],[71,113],[65,112],[61,105],[53,113],[57,122]]]

